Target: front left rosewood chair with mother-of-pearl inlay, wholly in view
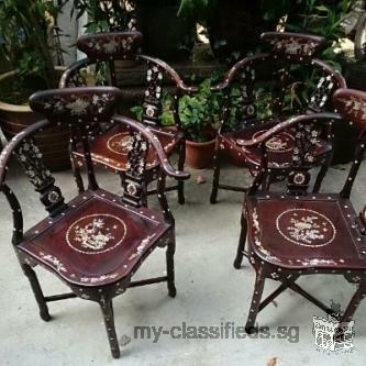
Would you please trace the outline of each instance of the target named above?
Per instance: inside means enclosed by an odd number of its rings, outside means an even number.
[[[160,143],[147,127],[121,115],[113,117],[119,99],[119,89],[112,87],[37,92],[31,97],[30,106],[47,119],[15,135],[0,156],[0,190],[13,212],[12,244],[24,275],[30,280],[41,318],[44,321],[51,320],[47,303],[52,301],[78,297],[97,302],[115,358],[120,356],[120,348],[112,299],[129,288],[162,281],[167,282],[169,296],[176,296],[175,224],[165,198],[165,177],[189,177],[171,167]],[[122,198],[99,188],[89,149],[88,131],[92,123],[110,121],[112,118],[115,124],[129,131],[132,138]],[[69,125],[73,138],[81,141],[88,173],[88,189],[68,203],[44,166],[42,154],[33,140],[37,131],[56,124]],[[160,166],[157,197],[163,212],[142,207],[147,152],[153,151]],[[12,155],[22,164],[48,212],[44,220],[25,233],[20,202],[5,179]],[[167,275],[132,281],[132,276],[157,246],[167,247]],[[45,296],[33,269],[37,265],[56,275],[71,292]]]

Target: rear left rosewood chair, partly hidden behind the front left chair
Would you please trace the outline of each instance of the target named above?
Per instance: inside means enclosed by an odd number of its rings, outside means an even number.
[[[87,57],[71,65],[64,73],[59,87],[80,87],[97,82],[120,87],[122,92],[125,92],[123,80],[118,78],[117,68],[122,70],[131,68],[129,75],[133,76],[140,86],[145,87],[144,95],[140,96],[143,99],[141,122],[149,126],[151,132],[158,137],[168,155],[178,151],[178,170],[182,170],[186,159],[186,141],[180,125],[178,104],[184,93],[195,89],[187,87],[178,74],[166,63],[142,55],[141,44],[142,34],[138,32],[96,33],[80,36],[77,47],[86,53]],[[162,124],[160,118],[165,93],[171,97],[170,109],[174,126],[169,127]],[[117,173],[123,179],[126,146],[130,144],[125,126],[102,123],[95,125],[90,133],[93,135],[90,146],[92,163]],[[80,142],[74,141],[71,145],[73,170],[79,191],[82,191],[80,168],[85,166],[85,159],[80,148]],[[145,196],[156,193],[156,190],[147,191],[148,184],[156,180],[159,168],[151,163],[147,162],[144,181]],[[184,181],[179,180],[176,186],[166,188],[166,190],[176,189],[178,190],[178,201],[182,204],[185,202]]]

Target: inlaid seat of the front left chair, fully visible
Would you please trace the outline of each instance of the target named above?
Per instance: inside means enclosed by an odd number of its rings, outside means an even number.
[[[31,264],[42,264],[68,282],[101,286],[131,276],[170,235],[171,225],[159,213],[133,209],[98,190],[84,192],[63,214],[32,228],[18,248]]]

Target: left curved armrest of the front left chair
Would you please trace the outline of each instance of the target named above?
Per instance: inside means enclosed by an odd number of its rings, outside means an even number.
[[[27,126],[26,129],[19,132],[13,138],[11,138],[9,143],[3,147],[0,155],[0,190],[3,182],[5,181],[8,163],[12,154],[14,153],[14,149],[22,143],[24,138],[34,135],[38,130],[47,126],[48,124],[48,120],[42,120]]]

